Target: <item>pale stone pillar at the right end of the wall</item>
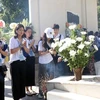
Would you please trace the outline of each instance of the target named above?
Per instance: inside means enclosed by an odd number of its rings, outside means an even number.
[[[91,2],[92,1],[92,2]],[[88,31],[98,30],[97,0],[86,0],[87,27]]]

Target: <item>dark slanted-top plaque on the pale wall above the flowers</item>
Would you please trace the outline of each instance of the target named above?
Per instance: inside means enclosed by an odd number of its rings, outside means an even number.
[[[79,16],[72,12],[67,12],[67,22],[79,24]]]

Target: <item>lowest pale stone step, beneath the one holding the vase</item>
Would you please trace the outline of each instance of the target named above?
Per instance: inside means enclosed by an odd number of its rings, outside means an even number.
[[[100,100],[100,99],[53,89],[47,92],[47,100]]]

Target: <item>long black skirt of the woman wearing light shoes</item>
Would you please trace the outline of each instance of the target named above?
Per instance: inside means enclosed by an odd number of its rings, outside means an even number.
[[[26,86],[35,86],[35,57],[26,58]]]

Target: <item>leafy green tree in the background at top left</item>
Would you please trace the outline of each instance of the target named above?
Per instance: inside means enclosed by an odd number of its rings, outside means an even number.
[[[0,18],[6,23],[29,18],[28,0],[0,0]]]

